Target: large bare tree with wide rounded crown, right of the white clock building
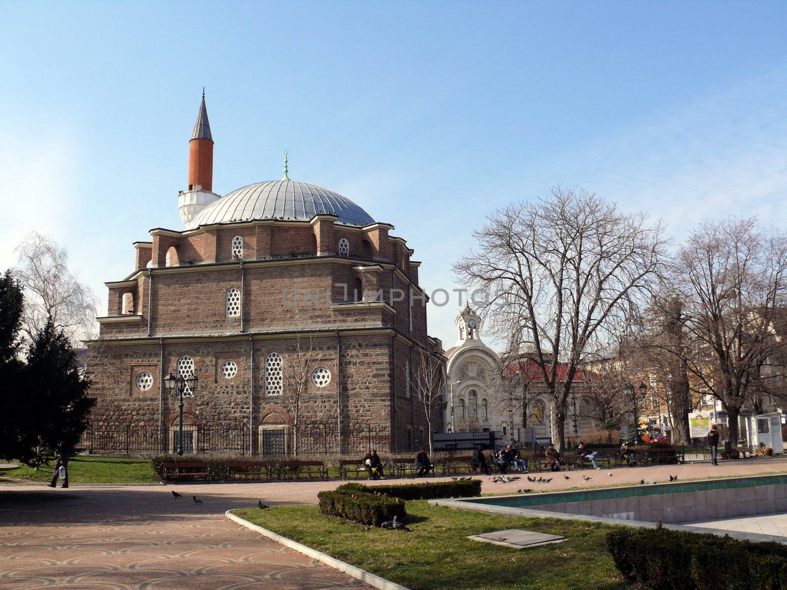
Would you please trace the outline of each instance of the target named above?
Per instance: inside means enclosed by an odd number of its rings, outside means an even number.
[[[626,315],[660,271],[660,223],[618,212],[583,189],[493,212],[478,248],[454,265],[469,286],[493,294],[479,305],[493,332],[518,334],[532,351],[551,405],[552,437],[565,445],[566,400],[586,349]],[[565,374],[558,374],[565,363]],[[561,373],[563,371],[561,370]]]

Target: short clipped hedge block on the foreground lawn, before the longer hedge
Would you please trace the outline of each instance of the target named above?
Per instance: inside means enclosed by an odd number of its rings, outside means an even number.
[[[362,525],[379,526],[393,520],[394,515],[401,520],[406,515],[405,500],[377,496],[364,490],[335,489],[331,492],[320,492],[317,498],[323,514],[346,518]]]

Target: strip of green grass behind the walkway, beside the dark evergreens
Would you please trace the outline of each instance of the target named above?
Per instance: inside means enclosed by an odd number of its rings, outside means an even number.
[[[54,461],[48,466],[42,466],[38,471],[22,465],[17,469],[4,471],[2,475],[33,481],[50,481],[53,470]],[[69,484],[143,484],[157,481],[159,480],[156,474],[150,468],[150,459],[79,455],[68,461]]]

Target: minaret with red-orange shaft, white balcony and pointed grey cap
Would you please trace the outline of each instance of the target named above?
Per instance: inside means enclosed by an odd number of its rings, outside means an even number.
[[[189,140],[189,187],[180,191],[178,205],[180,219],[186,225],[219,198],[213,191],[213,136],[210,133],[208,109],[205,107],[205,88],[202,102]]]

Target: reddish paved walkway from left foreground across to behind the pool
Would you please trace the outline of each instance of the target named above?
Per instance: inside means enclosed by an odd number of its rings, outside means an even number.
[[[669,475],[685,481],[785,471],[787,459],[778,458],[722,462],[718,467],[700,463],[540,474],[551,477],[549,483],[522,478],[494,484],[489,477],[481,479],[483,493],[504,494],[518,489],[623,485],[640,479],[663,482]],[[257,500],[316,503],[318,491],[341,483],[84,485],[71,489],[0,483],[0,590],[66,585],[72,590],[367,588],[224,518],[224,511],[253,506]],[[183,497],[173,497],[172,489]],[[193,494],[204,503],[194,503]]]

